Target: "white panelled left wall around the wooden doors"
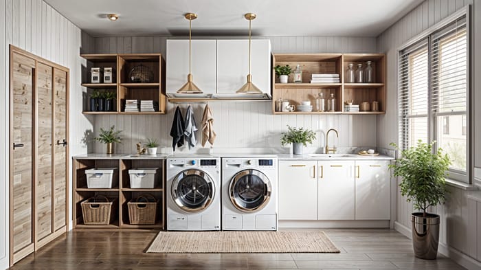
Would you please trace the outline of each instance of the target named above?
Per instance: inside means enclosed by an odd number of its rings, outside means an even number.
[[[87,153],[82,135],[93,128],[93,120],[80,114],[82,58],[80,52],[91,52],[93,38],[83,34],[76,25],[65,19],[43,0],[0,1],[0,269],[8,268],[8,101],[9,101],[9,44],[25,49],[70,69],[70,155]],[[79,112],[79,113],[72,113]],[[71,160],[71,159],[69,159]],[[71,172],[69,174],[71,179]],[[71,186],[71,185],[70,185]],[[71,194],[71,192],[69,192]]]

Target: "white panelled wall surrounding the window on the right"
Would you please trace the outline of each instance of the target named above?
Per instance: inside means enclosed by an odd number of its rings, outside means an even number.
[[[479,47],[481,44],[481,1],[473,0],[424,1],[378,37],[377,47],[379,52],[383,52],[388,56],[388,102],[385,115],[379,115],[377,118],[377,146],[388,148],[390,142],[398,141],[397,49],[403,43],[409,41],[410,38],[420,34],[465,5],[471,5],[473,48]],[[479,49],[473,49],[473,54],[473,60],[475,61],[473,74],[476,74],[476,71],[479,74],[481,70],[481,52]],[[475,76],[473,89],[475,89],[475,100],[478,101],[481,100],[478,89],[481,85],[480,80],[480,76]],[[477,166],[480,166],[481,119],[479,106],[475,110],[475,162]],[[465,266],[469,266],[469,258],[472,258],[474,260],[473,263],[478,262],[478,267],[481,267],[481,264],[479,264],[481,262],[481,217],[479,216],[481,203],[470,199],[466,190],[459,188],[449,188],[449,190],[450,194],[447,203],[434,209],[442,218],[440,244],[445,251],[449,251],[451,258],[455,258],[465,264]],[[411,212],[413,212],[412,203],[406,203],[405,198],[398,192],[397,229],[406,231],[406,229],[411,227]],[[456,251],[461,254],[456,254]]]

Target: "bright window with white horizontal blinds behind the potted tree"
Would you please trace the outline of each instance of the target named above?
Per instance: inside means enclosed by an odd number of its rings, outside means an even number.
[[[466,21],[463,14],[399,52],[401,147],[436,140],[451,159],[449,178],[460,181],[468,181]]]

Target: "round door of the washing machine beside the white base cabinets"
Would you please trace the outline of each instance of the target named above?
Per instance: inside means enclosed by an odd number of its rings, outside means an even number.
[[[258,170],[241,170],[229,185],[230,201],[242,212],[261,210],[271,199],[271,181]]]

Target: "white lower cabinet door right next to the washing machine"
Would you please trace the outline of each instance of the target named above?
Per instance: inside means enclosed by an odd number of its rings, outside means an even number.
[[[317,161],[279,161],[279,219],[317,220]]]

